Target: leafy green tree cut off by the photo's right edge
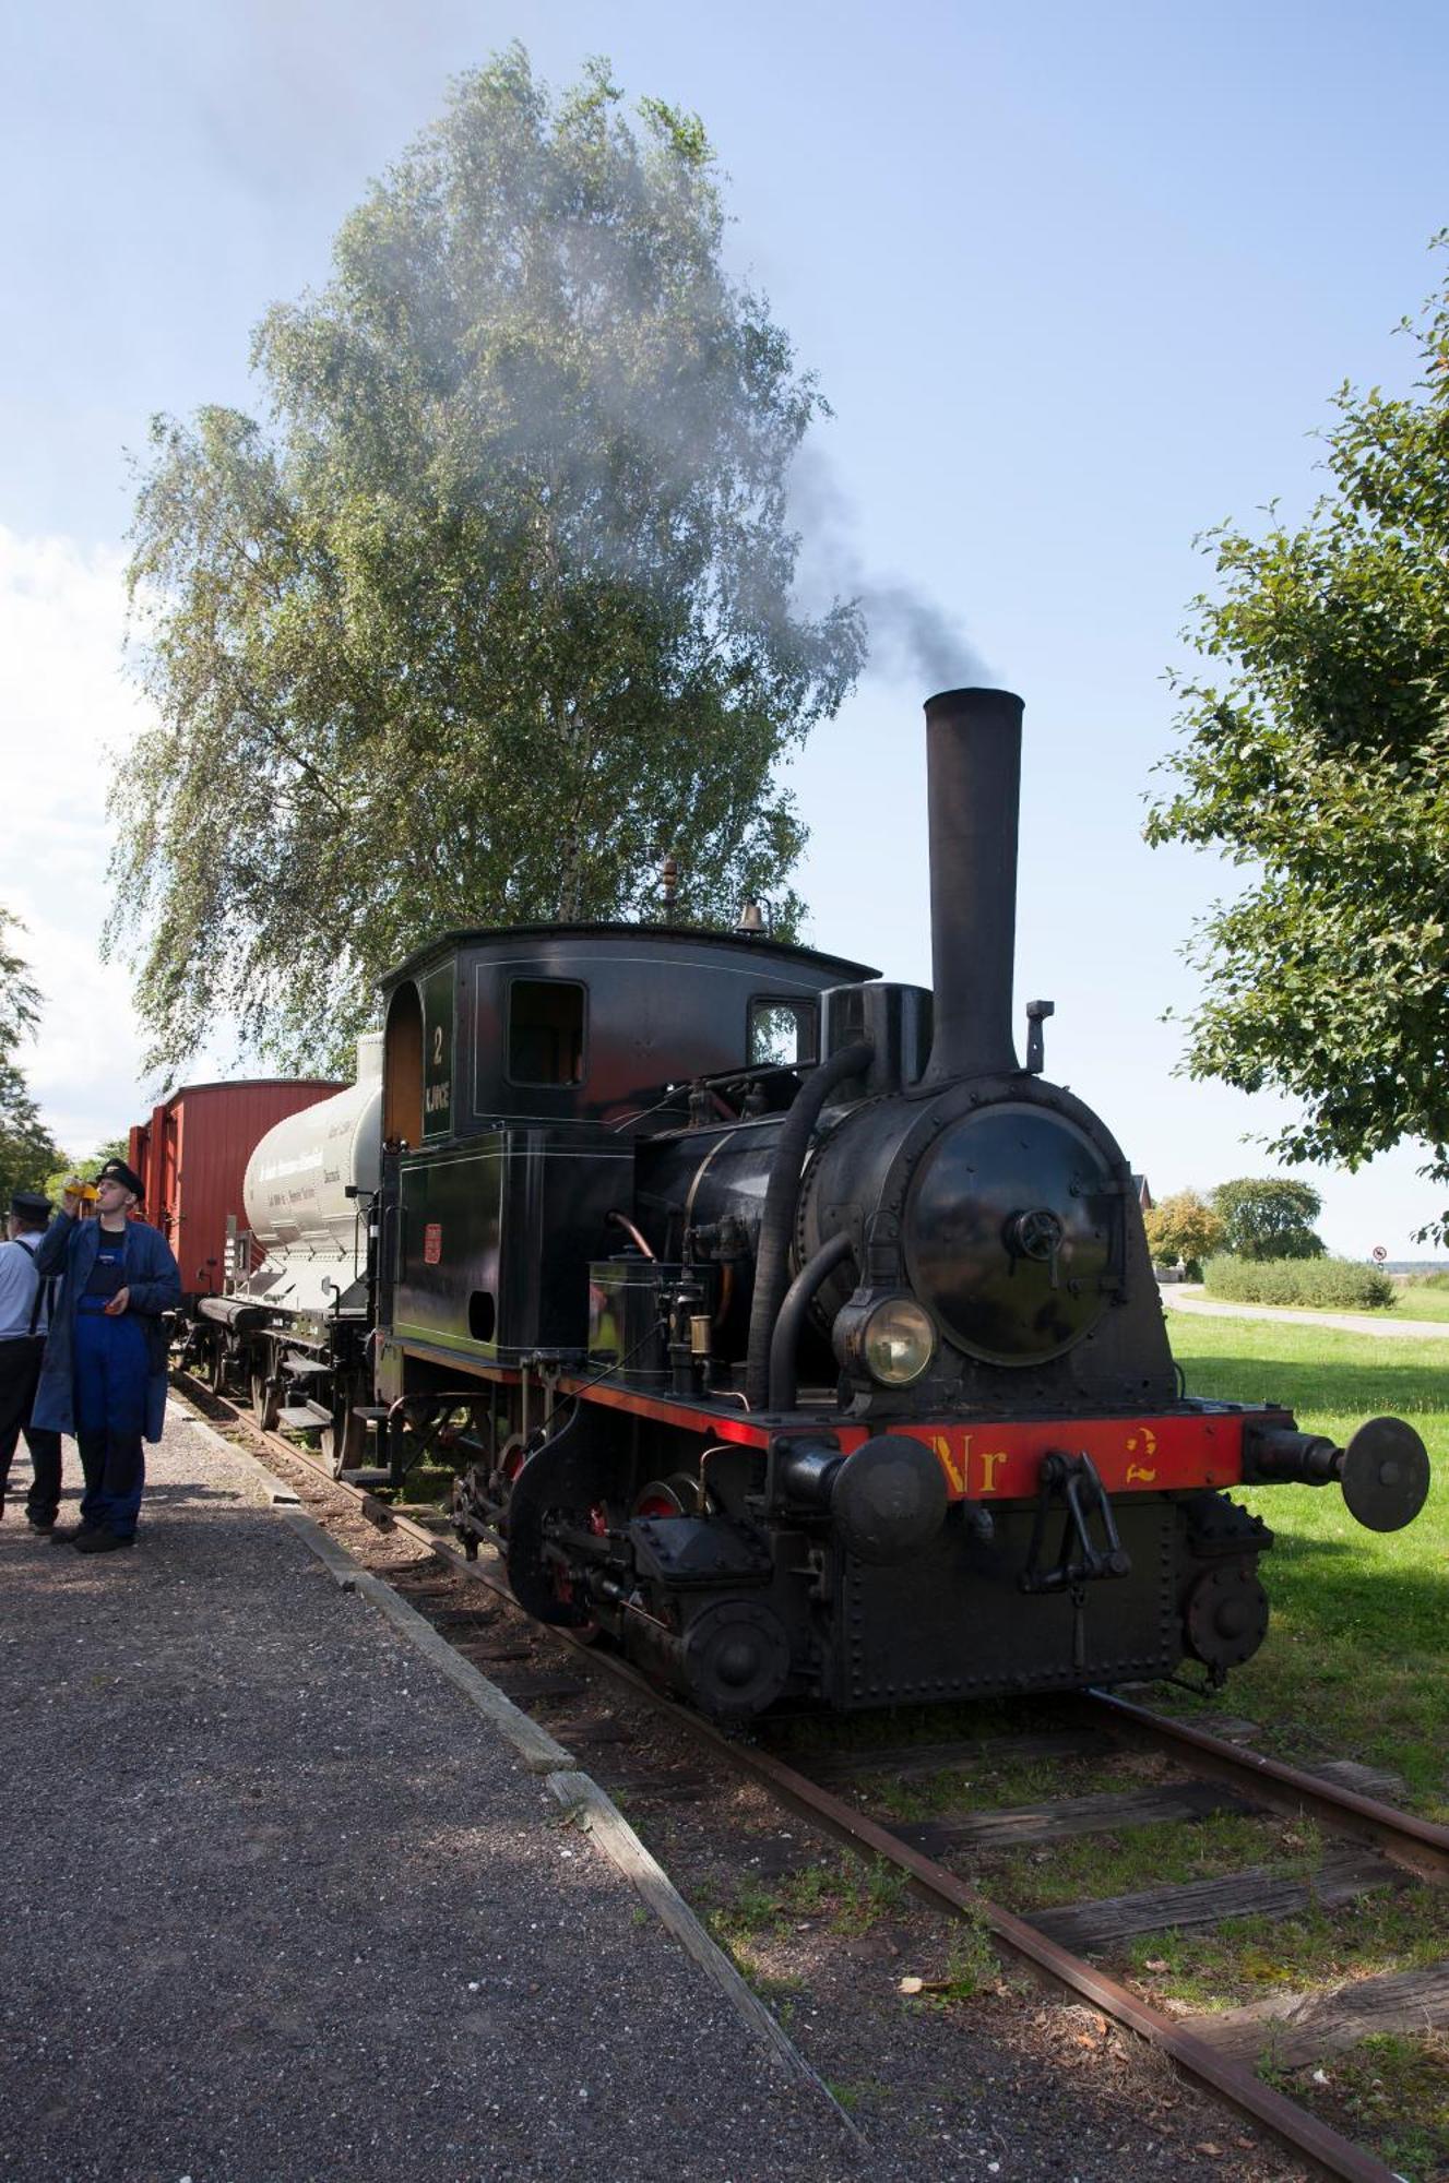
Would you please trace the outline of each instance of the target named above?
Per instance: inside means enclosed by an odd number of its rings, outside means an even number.
[[[1283,1161],[1355,1168],[1418,1137],[1445,1185],[1449,293],[1405,332],[1414,391],[1340,389],[1307,522],[1211,533],[1222,594],[1194,603],[1207,666],[1176,681],[1178,786],[1148,838],[1250,873],[1189,947],[1189,1074],[1290,1094]]]

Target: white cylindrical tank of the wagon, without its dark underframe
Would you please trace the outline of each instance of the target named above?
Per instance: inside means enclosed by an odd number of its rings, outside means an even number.
[[[325,1312],[367,1275],[367,1207],[382,1164],[382,1035],[358,1041],[358,1081],[268,1129],[242,1181],[262,1266],[247,1284],[292,1312]]]

